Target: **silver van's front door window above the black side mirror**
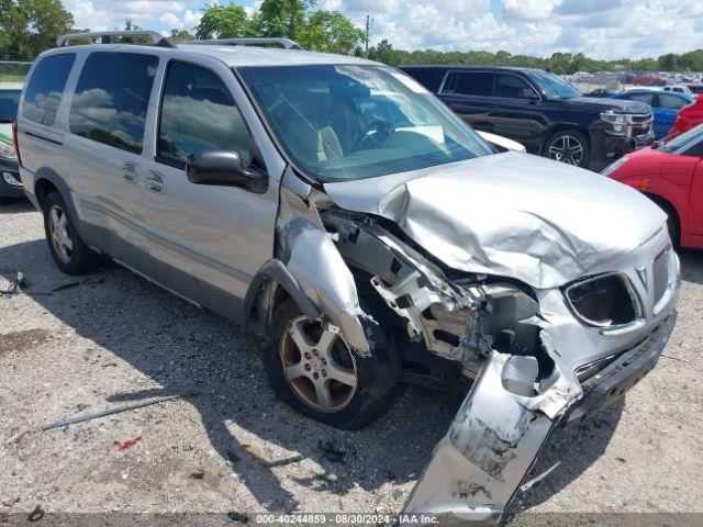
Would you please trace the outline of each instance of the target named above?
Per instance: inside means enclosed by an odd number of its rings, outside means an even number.
[[[208,69],[171,63],[166,74],[157,157],[181,167],[190,154],[236,150],[250,164],[250,135],[232,96]]]

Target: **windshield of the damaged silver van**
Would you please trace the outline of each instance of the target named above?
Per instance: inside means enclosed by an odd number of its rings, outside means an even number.
[[[287,154],[320,181],[372,178],[492,154],[434,96],[391,68],[239,71]]]

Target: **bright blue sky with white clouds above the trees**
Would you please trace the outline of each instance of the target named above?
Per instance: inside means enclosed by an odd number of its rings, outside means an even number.
[[[252,7],[257,0],[235,2]],[[192,29],[208,0],[64,0],[76,25],[121,29],[125,19],[157,31]],[[228,0],[221,0],[227,4]],[[657,57],[703,47],[701,0],[317,0],[359,25],[371,41],[403,49],[505,49],[548,56]]]

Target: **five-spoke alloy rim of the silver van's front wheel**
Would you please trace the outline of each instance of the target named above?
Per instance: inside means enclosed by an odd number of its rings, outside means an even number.
[[[356,393],[358,383],[356,360],[336,333],[294,318],[280,343],[283,373],[295,395],[317,412],[344,410]]]

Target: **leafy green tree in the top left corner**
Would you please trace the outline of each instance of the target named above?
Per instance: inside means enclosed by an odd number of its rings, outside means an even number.
[[[0,0],[0,52],[34,57],[72,25],[59,0]]]

